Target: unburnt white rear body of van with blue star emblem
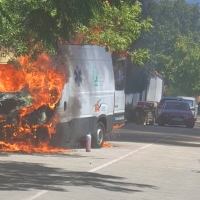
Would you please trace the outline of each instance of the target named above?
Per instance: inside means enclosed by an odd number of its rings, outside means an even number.
[[[110,52],[104,47],[60,45],[69,80],[65,84],[57,110],[60,123],[57,133],[68,142],[92,135],[93,147],[102,147],[105,134],[125,121],[125,93],[115,90],[115,77]],[[119,61],[117,80],[122,81],[123,65]]]

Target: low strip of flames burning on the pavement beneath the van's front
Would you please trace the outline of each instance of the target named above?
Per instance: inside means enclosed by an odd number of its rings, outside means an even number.
[[[31,142],[0,142],[0,152],[26,152],[26,153],[57,153],[71,152],[69,149],[53,148],[47,143],[40,143],[37,147]]]

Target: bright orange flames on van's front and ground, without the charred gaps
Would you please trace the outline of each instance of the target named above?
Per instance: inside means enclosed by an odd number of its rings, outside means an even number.
[[[60,64],[59,58],[53,60],[47,54],[43,53],[38,56],[34,62],[30,61],[29,56],[21,56],[18,58],[18,68],[10,64],[0,64],[0,92],[17,92],[26,89],[32,98],[30,106],[22,107],[17,110],[19,115],[19,123],[7,123],[4,116],[0,115],[0,122],[3,122],[2,133],[4,141],[7,141],[7,135],[12,132],[9,142],[0,142],[2,148],[0,151],[25,151],[31,152],[60,152],[63,149],[51,147],[48,142],[40,143],[39,146],[29,141],[16,142],[17,137],[21,135],[29,135],[36,138],[37,129],[43,127],[48,130],[49,137],[55,133],[55,127],[59,122],[59,116],[54,116],[48,120],[48,123],[30,125],[24,116],[33,111],[46,106],[49,110],[54,110],[58,103],[64,84],[67,82],[67,74],[64,66]],[[59,69],[59,70],[58,70]],[[64,72],[64,73],[63,73]],[[10,141],[11,140],[11,141]],[[13,143],[14,142],[14,143]]]

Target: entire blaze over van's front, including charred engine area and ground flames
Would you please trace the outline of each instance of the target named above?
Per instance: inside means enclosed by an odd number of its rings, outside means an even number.
[[[67,74],[63,71],[65,69],[60,58],[53,60],[44,53],[36,61],[31,62],[29,56],[21,56],[16,66],[0,64],[0,94],[4,95],[3,97],[13,95],[5,105],[1,104],[0,137],[5,142],[0,142],[0,151],[63,152],[62,149],[52,148],[48,140],[55,133],[55,127],[59,122],[59,116],[54,108],[67,82]],[[23,96],[22,93],[27,95]],[[14,104],[15,94],[21,98],[19,105]],[[21,106],[21,101],[28,103]],[[40,121],[37,123],[30,115],[34,112],[36,117],[40,115]],[[31,142],[37,139],[39,134],[46,137],[46,143],[38,140],[36,147]],[[22,142],[18,142],[19,138]]]

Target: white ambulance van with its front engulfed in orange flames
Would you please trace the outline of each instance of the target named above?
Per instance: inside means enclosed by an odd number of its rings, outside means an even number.
[[[116,89],[104,47],[60,45],[56,58],[42,54],[30,64],[22,57],[19,64],[20,70],[0,68],[1,140],[65,145],[90,133],[99,148],[114,126],[124,124],[123,70]]]

